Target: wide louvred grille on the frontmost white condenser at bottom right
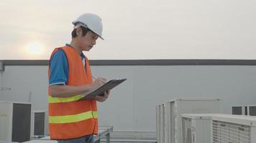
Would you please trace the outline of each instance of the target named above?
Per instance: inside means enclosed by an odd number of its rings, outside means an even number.
[[[213,143],[251,143],[250,127],[242,124],[212,122]]]

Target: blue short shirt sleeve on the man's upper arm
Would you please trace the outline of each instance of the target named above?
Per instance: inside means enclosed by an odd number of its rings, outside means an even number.
[[[58,50],[50,59],[49,85],[63,84],[68,80],[68,59],[63,50]]]

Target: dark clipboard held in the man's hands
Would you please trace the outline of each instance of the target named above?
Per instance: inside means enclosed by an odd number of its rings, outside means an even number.
[[[86,96],[84,96],[83,98],[81,98],[79,100],[92,99],[93,97],[96,97],[96,95],[103,96],[104,92],[106,92],[107,90],[113,89],[114,87],[118,86],[119,84],[122,84],[122,82],[124,82],[126,80],[127,79],[112,79],[109,82],[107,82],[106,84],[104,84],[103,86],[99,87],[98,89],[96,89],[93,92],[87,94]]]

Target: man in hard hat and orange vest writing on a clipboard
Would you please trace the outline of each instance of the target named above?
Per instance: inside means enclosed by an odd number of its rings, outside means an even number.
[[[106,83],[104,78],[93,79],[87,57],[96,40],[102,38],[101,18],[83,14],[73,21],[70,44],[56,48],[50,57],[49,130],[50,138],[59,143],[93,143],[98,134],[96,101],[104,102],[109,91],[93,99],[81,99]]]

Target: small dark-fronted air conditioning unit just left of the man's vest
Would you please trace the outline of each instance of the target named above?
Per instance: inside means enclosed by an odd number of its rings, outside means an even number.
[[[32,111],[31,117],[32,137],[45,137],[48,133],[47,111]]]

